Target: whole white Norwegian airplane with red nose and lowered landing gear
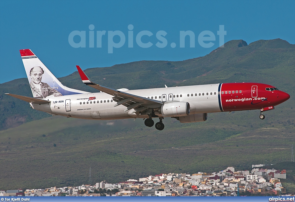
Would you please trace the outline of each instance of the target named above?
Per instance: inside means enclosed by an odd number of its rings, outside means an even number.
[[[272,110],[290,98],[274,86],[259,83],[114,90],[93,83],[76,66],[83,83],[100,91],[91,93],[63,86],[30,49],[20,50],[20,54],[33,98],[7,95],[52,115],[92,120],[143,118],[148,127],[154,125],[152,118],[159,118],[155,128],[163,130],[165,117],[193,123],[206,121],[207,113],[260,109],[260,119],[264,119],[264,111]]]

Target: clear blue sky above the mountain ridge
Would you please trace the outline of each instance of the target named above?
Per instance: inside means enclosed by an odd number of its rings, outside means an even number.
[[[128,47],[128,25],[133,25],[133,47]],[[94,48],[89,47],[89,25],[94,25]],[[140,60],[179,61],[209,54],[219,46],[219,25],[227,34],[224,41],[243,39],[248,44],[259,39],[281,38],[295,43],[295,1],[0,1],[0,83],[26,77],[19,49],[31,49],[57,77],[82,69],[105,67]],[[69,43],[72,31],[85,31],[86,47]],[[109,32],[121,31],[125,43],[108,53]],[[153,35],[142,36],[141,31]],[[156,33],[165,31],[164,48],[156,46]],[[192,31],[180,48],[180,31]],[[101,48],[96,47],[96,31],[106,31]],[[198,36],[210,31],[214,45],[202,47]],[[208,35],[206,35],[208,36]],[[112,38],[119,43],[120,37]],[[121,39],[122,40],[122,39]],[[80,36],[74,36],[78,43]],[[205,41],[209,43],[210,41]],[[171,43],[176,47],[172,48]]]

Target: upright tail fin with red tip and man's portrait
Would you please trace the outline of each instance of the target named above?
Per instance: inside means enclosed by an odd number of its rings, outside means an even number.
[[[88,93],[61,84],[30,49],[19,50],[19,52],[22,56],[24,69],[34,98],[43,99],[46,97]]]

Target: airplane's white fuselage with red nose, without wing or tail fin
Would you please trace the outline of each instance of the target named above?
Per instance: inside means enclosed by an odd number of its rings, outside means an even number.
[[[158,100],[163,104],[176,101],[188,102],[191,115],[261,109],[276,106],[289,99],[289,94],[271,90],[274,88],[274,86],[260,83],[224,83],[124,92]],[[50,98],[48,100],[51,102],[48,104],[31,103],[31,107],[51,114],[83,119],[112,120],[149,117],[147,114],[132,113],[133,109],[126,111],[127,107],[123,105],[114,107],[116,102],[112,97],[114,96],[103,92],[67,95]],[[155,115],[166,117],[161,111],[155,112]]]

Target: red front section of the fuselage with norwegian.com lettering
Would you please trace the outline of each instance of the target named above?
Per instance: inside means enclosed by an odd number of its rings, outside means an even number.
[[[289,99],[287,98],[289,95],[282,91],[266,91],[266,88],[274,86],[259,83],[222,84],[220,89],[222,108],[224,111],[260,109],[276,106]]]

